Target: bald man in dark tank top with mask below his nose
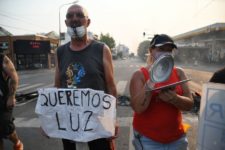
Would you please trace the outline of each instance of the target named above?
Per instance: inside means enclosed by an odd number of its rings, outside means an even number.
[[[87,36],[90,25],[87,11],[72,5],[66,14],[67,32],[71,41],[57,49],[55,87],[91,88],[117,96],[113,78],[113,65],[107,45]],[[88,142],[90,150],[113,150],[113,138]],[[62,139],[64,150],[75,150],[76,142]]]

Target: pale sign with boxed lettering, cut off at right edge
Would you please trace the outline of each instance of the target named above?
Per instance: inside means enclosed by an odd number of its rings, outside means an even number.
[[[198,150],[225,150],[225,84],[203,86]]]

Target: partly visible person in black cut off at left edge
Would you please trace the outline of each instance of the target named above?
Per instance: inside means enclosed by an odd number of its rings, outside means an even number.
[[[12,116],[17,86],[18,75],[13,63],[7,56],[0,54],[0,150],[4,149],[3,139],[13,142],[14,150],[23,150]]]

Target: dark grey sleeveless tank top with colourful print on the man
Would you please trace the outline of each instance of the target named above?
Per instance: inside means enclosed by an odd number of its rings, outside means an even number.
[[[81,51],[70,43],[57,50],[61,88],[91,88],[106,92],[103,66],[103,43],[92,41]]]

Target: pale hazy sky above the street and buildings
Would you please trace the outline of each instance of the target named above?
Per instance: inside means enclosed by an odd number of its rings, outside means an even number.
[[[0,26],[13,34],[59,32],[59,7],[73,0],[0,0]],[[116,44],[136,51],[149,35],[171,36],[225,23],[225,0],[79,0],[91,19],[89,30],[109,33]],[[60,9],[61,28],[69,5]]]

